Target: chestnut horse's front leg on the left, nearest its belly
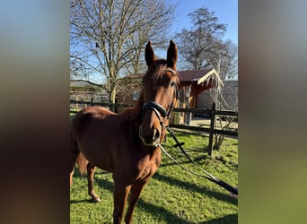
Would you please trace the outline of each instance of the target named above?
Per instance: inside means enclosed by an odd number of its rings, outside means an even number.
[[[131,185],[124,185],[121,181],[114,179],[114,210],[113,223],[119,224],[123,219],[123,212],[127,201],[127,195],[130,192]]]

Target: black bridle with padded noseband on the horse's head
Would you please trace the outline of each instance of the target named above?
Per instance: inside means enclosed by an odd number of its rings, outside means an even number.
[[[171,73],[174,73],[175,75],[178,74],[175,70],[173,70],[171,68],[165,68],[164,72],[171,72]],[[143,109],[143,117],[145,116],[145,113],[148,109],[153,110],[154,114],[158,117],[158,119],[160,121],[160,125],[162,126],[162,129],[164,128],[163,120],[170,118],[171,112],[173,110],[174,99],[177,98],[177,93],[178,93],[177,84],[174,86],[174,88],[175,88],[174,94],[172,96],[171,104],[169,106],[168,111],[165,108],[163,108],[160,104],[158,104],[154,101],[145,102],[145,104],[143,105],[143,108],[142,108]]]

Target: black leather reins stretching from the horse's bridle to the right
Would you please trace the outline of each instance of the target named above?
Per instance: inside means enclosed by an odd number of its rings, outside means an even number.
[[[171,155],[170,155],[167,151],[165,151],[164,148],[162,147],[162,145],[159,143],[159,147],[162,149],[162,151],[163,151],[171,160],[173,160],[175,163],[177,163],[177,164],[180,166],[180,168],[183,168],[184,170],[188,171],[189,173],[191,173],[191,174],[193,174],[193,175],[195,175],[195,176],[197,176],[197,177],[204,177],[204,178],[206,178],[207,180],[210,180],[210,181],[214,182],[216,185],[222,186],[224,189],[228,190],[228,191],[231,192],[232,194],[238,195],[238,189],[234,188],[232,185],[229,185],[229,184],[225,183],[223,180],[220,180],[220,179],[216,178],[216,177],[213,176],[212,174],[208,173],[205,169],[200,168],[199,166],[197,166],[197,164],[195,163],[195,161],[194,161],[193,159],[191,159],[191,158],[189,157],[188,153],[187,153],[186,151],[184,151],[184,149],[181,147],[181,146],[184,144],[184,142],[178,142],[178,140],[177,140],[175,134],[172,132],[172,130],[171,130],[171,128],[170,128],[169,126],[167,126],[166,129],[169,131],[169,133],[171,134],[171,137],[172,137],[172,138],[175,140],[175,142],[176,142],[176,144],[174,145],[174,147],[180,147],[180,151],[189,159],[189,161],[190,161],[191,163],[193,163],[193,165],[194,165],[196,168],[199,168],[201,171],[203,171],[203,172],[204,172],[207,176],[209,176],[209,177],[206,177],[206,176],[204,176],[204,175],[198,174],[198,173],[196,173],[196,172],[194,172],[194,171],[191,171],[191,170],[189,170],[188,168],[185,168],[184,166],[182,166],[182,165],[180,164],[180,162],[177,161],[176,159],[173,159],[173,158],[171,157]]]

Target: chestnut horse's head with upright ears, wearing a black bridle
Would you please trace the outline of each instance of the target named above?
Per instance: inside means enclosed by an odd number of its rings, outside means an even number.
[[[179,83],[176,71],[178,50],[170,42],[167,59],[156,59],[149,41],[145,47],[148,70],[143,78],[143,123],[139,136],[146,146],[157,146],[164,132],[163,121],[170,116]]]

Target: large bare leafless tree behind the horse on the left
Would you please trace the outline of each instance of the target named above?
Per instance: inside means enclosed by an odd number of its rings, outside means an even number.
[[[172,7],[165,0],[71,0],[71,74],[106,82],[114,103],[118,78],[138,72],[145,43],[165,41]]]

